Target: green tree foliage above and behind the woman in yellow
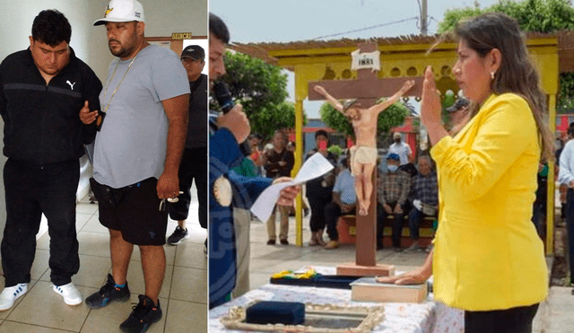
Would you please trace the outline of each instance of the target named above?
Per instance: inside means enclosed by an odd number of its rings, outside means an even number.
[[[552,32],[574,29],[574,8],[570,0],[500,0],[500,3],[480,9],[473,7],[449,9],[439,22],[439,33],[453,30],[457,22],[487,12],[506,13],[517,19],[523,31]],[[557,110],[574,108],[574,74],[560,74]]]

